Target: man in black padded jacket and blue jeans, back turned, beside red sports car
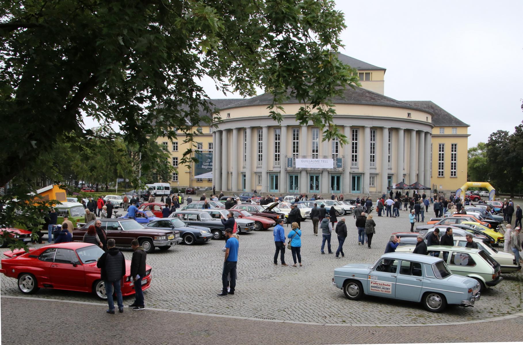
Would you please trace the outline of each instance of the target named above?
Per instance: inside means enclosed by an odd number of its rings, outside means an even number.
[[[112,299],[112,288],[115,288],[118,311],[123,313],[122,290],[120,286],[121,279],[126,273],[126,259],[120,250],[115,248],[115,240],[107,241],[108,250],[98,259],[96,267],[100,269],[100,278],[105,282],[105,291],[109,309],[107,313],[115,314],[115,302]]]

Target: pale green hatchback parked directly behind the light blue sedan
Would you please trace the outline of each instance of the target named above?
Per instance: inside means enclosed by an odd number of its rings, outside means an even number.
[[[429,252],[439,252],[438,257],[445,260],[452,273],[477,280],[480,292],[503,280],[499,263],[482,249],[451,246],[429,246],[427,249]],[[408,251],[409,247],[396,248],[396,252]]]

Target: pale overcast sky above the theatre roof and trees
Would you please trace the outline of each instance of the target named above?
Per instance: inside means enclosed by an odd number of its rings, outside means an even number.
[[[471,125],[469,147],[521,123],[523,1],[338,0],[337,9],[342,53],[386,68],[386,96],[435,102]]]

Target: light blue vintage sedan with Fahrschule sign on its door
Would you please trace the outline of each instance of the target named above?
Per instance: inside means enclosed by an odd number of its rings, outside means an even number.
[[[440,258],[410,253],[384,254],[369,266],[352,263],[334,270],[333,285],[349,300],[363,294],[421,302],[429,312],[442,312],[447,304],[464,307],[480,299],[480,284],[452,274]]]

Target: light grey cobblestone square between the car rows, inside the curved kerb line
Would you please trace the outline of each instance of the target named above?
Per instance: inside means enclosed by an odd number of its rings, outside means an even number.
[[[434,213],[429,211],[426,221],[430,215]],[[147,255],[147,263],[153,267],[153,279],[151,288],[145,292],[146,306],[338,325],[440,324],[488,319],[523,311],[520,287],[523,279],[520,273],[505,274],[504,281],[484,292],[473,308],[449,307],[442,314],[428,313],[419,304],[385,298],[347,300],[342,290],[332,286],[333,270],[347,263],[376,261],[383,254],[391,233],[410,231],[406,211],[401,211],[398,218],[377,217],[375,214],[374,220],[377,223],[376,235],[372,249],[368,249],[367,246],[357,245],[354,218],[347,216],[349,236],[344,246],[345,258],[342,259],[336,259],[333,254],[321,255],[321,235],[313,235],[311,221],[302,223],[303,267],[297,268],[272,264],[275,248],[271,230],[241,235],[236,294],[226,297],[216,296],[221,290],[223,240],[211,240],[195,246],[177,245],[167,251],[156,250]],[[289,230],[290,226],[286,227],[286,234]],[[331,244],[333,251],[337,244],[334,237]],[[127,259],[131,259],[132,250],[122,251]],[[292,263],[289,250],[286,250],[286,261]],[[21,296],[15,279],[0,279],[2,295]],[[35,297],[98,301],[93,295],[85,293],[44,289]],[[132,303],[132,300],[128,297],[124,302]]]

